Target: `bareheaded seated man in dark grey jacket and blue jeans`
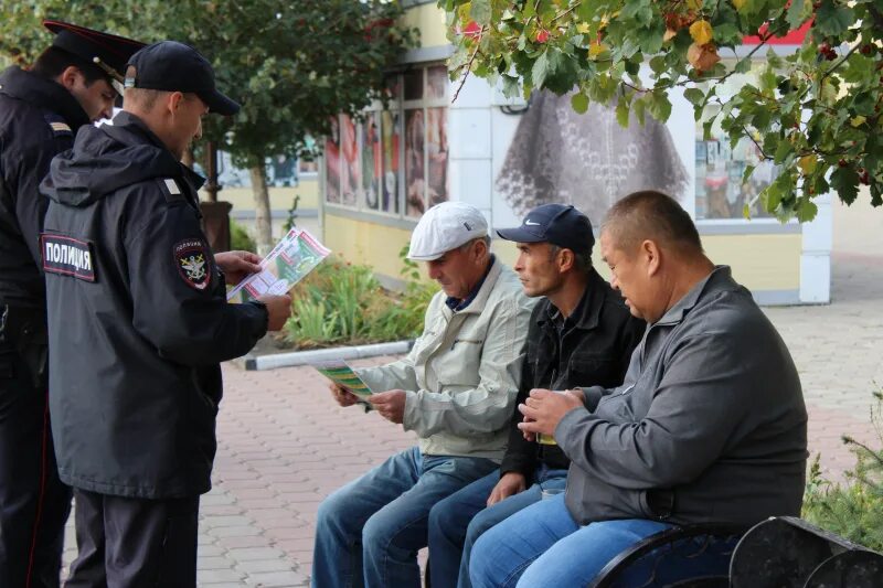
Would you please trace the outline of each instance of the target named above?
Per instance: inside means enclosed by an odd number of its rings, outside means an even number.
[[[607,215],[600,249],[648,328],[621,386],[534,389],[528,436],[571,459],[564,496],[492,527],[472,549],[476,587],[586,586],[617,554],[672,524],[751,525],[800,514],[807,413],[791,356],[693,222],[659,192]]]

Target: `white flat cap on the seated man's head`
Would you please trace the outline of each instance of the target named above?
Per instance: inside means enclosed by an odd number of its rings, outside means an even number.
[[[443,202],[426,211],[414,227],[407,258],[432,261],[487,234],[481,211],[462,202]]]

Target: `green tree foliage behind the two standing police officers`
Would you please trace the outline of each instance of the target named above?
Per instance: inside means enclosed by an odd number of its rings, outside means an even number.
[[[217,85],[243,108],[206,118],[205,133],[237,163],[304,154],[305,138],[329,130],[379,96],[384,70],[413,38],[384,0],[0,0],[0,53],[29,64],[51,42],[40,21],[66,20],[153,42],[173,39],[200,50]]]

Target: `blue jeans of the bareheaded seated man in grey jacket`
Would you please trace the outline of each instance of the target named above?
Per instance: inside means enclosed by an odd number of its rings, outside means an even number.
[[[579,526],[558,494],[485,533],[469,576],[477,588],[586,586],[618,554],[670,526],[637,518]]]

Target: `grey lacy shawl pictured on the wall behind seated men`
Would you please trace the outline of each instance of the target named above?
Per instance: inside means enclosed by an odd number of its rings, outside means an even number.
[[[632,117],[623,128],[613,107],[592,104],[581,115],[571,95],[535,92],[525,110],[507,118],[514,119],[514,132],[494,192],[517,218],[556,202],[573,204],[598,225],[615,202],[638,190],[685,199],[691,174],[669,128],[649,116],[643,126]]]

